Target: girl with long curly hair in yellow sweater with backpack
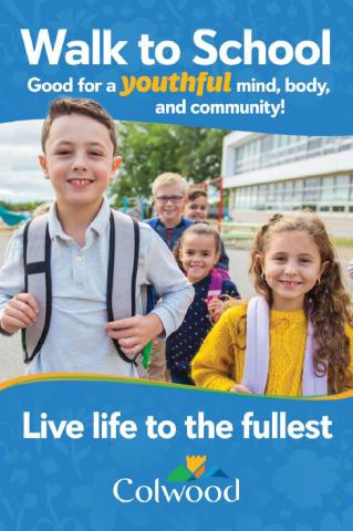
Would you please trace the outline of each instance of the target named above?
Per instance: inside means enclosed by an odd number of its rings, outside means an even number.
[[[196,385],[277,396],[353,387],[352,305],[321,219],[272,216],[249,273],[259,296],[215,325],[193,362]]]

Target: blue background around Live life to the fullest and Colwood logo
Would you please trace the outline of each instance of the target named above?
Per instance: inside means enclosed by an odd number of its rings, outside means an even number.
[[[24,440],[22,415],[32,412],[33,429],[41,412],[56,421],[79,419],[86,435],[79,440]],[[138,427],[133,440],[93,440],[93,410],[122,412]],[[197,416],[235,425],[229,440],[190,440],[184,419]],[[333,439],[242,440],[240,420],[247,410],[270,418],[285,410],[288,419],[333,421]],[[170,419],[177,436],[150,440],[147,415]],[[0,530],[251,530],[350,531],[353,523],[352,400],[307,402],[253,398],[199,389],[138,383],[41,382],[11,387],[0,400]],[[118,503],[113,483],[129,477],[138,485],[167,476],[186,455],[207,455],[229,479],[200,479],[195,485],[240,480],[240,501]]]

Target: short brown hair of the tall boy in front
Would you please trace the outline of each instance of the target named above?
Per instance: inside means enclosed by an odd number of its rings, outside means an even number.
[[[110,116],[105,111],[105,108],[102,107],[94,100],[73,98],[73,97],[66,97],[62,100],[58,98],[52,101],[49,107],[48,116],[44,121],[43,128],[42,128],[43,153],[45,153],[45,142],[49,138],[50,128],[54,119],[59,118],[59,116],[66,116],[71,114],[83,114],[84,116],[89,116],[90,118],[95,119],[96,122],[100,122],[101,124],[103,124],[110,133],[110,137],[114,147],[113,154],[115,154],[117,140],[116,140],[115,123],[112,116]]]

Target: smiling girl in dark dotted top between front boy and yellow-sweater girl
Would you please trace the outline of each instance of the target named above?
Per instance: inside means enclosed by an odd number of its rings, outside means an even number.
[[[225,310],[224,299],[239,296],[237,287],[214,270],[219,260],[220,237],[205,223],[186,229],[175,256],[187,279],[195,289],[195,299],[181,326],[167,339],[166,357],[172,382],[194,385],[190,378],[190,362],[207,333]],[[218,283],[218,293],[210,288]]]

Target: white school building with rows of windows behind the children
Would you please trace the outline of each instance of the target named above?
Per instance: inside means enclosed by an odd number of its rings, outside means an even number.
[[[310,208],[353,227],[353,136],[232,132],[224,139],[222,176],[235,219]]]

